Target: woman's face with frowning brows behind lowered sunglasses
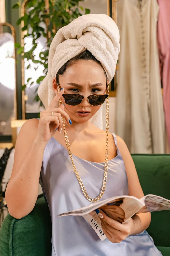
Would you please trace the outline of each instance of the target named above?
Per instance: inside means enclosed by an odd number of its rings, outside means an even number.
[[[59,75],[59,84],[64,87],[64,93],[81,94],[88,97],[92,94],[107,94],[106,83],[108,83],[103,68],[92,60],[78,60],[67,68],[63,75]],[[95,85],[98,84],[98,85]],[[56,79],[53,79],[53,90],[58,94]],[[84,98],[77,106],[70,106],[65,103],[64,111],[68,113],[71,120],[77,123],[87,122],[102,106],[92,106],[88,99]],[[89,112],[86,116],[79,116],[78,112]]]

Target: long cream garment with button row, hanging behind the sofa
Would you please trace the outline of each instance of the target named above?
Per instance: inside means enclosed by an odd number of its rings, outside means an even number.
[[[155,0],[124,0],[116,134],[131,153],[165,153]]]

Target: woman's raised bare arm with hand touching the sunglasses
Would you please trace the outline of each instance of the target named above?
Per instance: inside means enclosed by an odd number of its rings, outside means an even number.
[[[14,165],[5,193],[9,213],[16,219],[28,215],[35,206],[44,150],[56,128],[62,128],[61,116],[70,124],[64,105],[55,108],[63,93],[64,89],[60,90],[40,112],[40,120],[26,121],[17,136]]]

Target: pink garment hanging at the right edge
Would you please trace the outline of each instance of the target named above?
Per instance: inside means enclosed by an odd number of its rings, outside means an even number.
[[[163,85],[163,107],[167,136],[170,145],[170,0],[157,1],[160,7],[157,24],[157,38],[160,73]]]

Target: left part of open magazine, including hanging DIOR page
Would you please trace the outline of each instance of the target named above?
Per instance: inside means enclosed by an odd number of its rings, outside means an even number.
[[[61,213],[58,217],[66,215],[84,217],[100,237],[101,241],[103,241],[106,239],[106,235],[103,233],[101,220],[95,211],[96,209],[101,209],[108,217],[123,224],[143,206],[144,203],[134,196],[117,196],[93,203],[87,207]]]

